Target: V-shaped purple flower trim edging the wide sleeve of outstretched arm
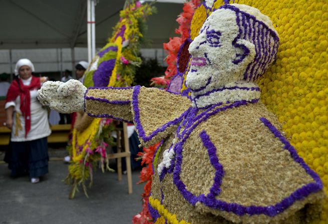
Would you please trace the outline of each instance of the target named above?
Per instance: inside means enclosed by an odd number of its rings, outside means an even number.
[[[180,117],[167,122],[166,124],[162,125],[161,127],[157,128],[155,131],[153,131],[149,136],[146,136],[145,131],[141,125],[141,121],[140,121],[140,110],[139,110],[139,101],[138,101],[138,96],[139,96],[139,92],[140,92],[140,86],[135,86],[133,88],[133,94],[132,94],[132,109],[135,113],[134,115],[134,122],[136,124],[136,129],[138,130],[138,134],[139,136],[145,141],[149,141],[151,140],[155,135],[157,135],[159,132],[163,132],[166,128],[172,126],[172,125],[176,125],[177,123],[179,123],[182,118],[185,116],[185,114],[187,114],[190,110],[190,108],[188,108],[185,112],[183,112],[181,114]]]

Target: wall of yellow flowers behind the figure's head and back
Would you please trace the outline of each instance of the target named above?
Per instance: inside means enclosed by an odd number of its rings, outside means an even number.
[[[230,1],[232,3],[232,1]],[[318,173],[328,192],[328,2],[326,0],[235,0],[267,15],[279,34],[277,59],[258,80],[261,101],[275,113],[298,154]],[[223,1],[217,0],[217,9]],[[206,9],[191,22],[197,36]],[[195,19],[196,18],[196,19]],[[321,219],[327,223],[328,199]]]

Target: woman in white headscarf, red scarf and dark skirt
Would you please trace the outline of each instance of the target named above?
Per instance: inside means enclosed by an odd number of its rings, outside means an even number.
[[[11,155],[7,156],[12,176],[29,172],[32,183],[48,173],[48,141],[51,134],[48,112],[37,99],[37,91],[46,77],[32,76],[34,65],[20,59],[15,68],[16,78],[6,98],[6,126],[12,130]]]

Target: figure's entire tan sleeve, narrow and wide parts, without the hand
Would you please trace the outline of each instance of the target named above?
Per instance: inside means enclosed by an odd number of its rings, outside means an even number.
[[[134,123],[144,146],[175,131],[190,107],[187,97],[158,88],[89,88],[85,94],[85,111],[89,116]]]

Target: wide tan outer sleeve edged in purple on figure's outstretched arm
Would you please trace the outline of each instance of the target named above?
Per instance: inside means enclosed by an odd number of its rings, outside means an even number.
[[[154,144],[175,131],[190,107],[187,97],[158,88],[135,86],[132,114],[141,144]]]

